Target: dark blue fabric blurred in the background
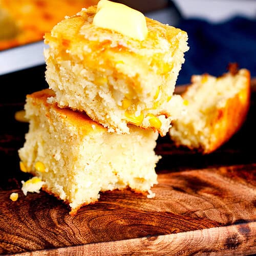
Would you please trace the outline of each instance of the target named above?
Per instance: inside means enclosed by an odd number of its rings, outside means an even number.
[[[177,84],[190,82],[193,74],[222,75],[229,62],[237,62],[256,77],[256,19],[233,17],[219,24],[181,19],[177,27],[188,33],[190,47]]]

